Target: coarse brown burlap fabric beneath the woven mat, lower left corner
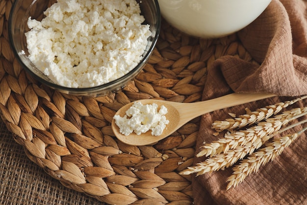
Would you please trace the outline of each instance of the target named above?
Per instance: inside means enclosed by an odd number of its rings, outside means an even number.
[[[0,205],[104,205],[61,185],[31,162],[0,120]]]

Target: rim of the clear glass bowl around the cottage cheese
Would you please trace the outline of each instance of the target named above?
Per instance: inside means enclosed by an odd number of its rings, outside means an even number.
[[[33,1],[36,1],[36,0],[33,0]],[[9,20],[8,20],[9,43],[10,43],[11,49],[13,50],[15,57],[17,58],[19,63],[22,65],[22,67],[35,80],[47,85],[48,87],[59,90],[59,91],[66,93],[66,94],[89,95],[89,96],[107,95],[107,94],[114,93],[114,92],[119,91],[122,88],[124,88],[128,84],[128,82],[130,80],[132,80],[142,70],[142,68],[146,65],[147,61],[150,59],[150,57],[153,53],[153,49],[155,47],[158,36],[160,34],[160,29],[161,29],[161,13],[160,13],[160,7],[159,7],[159,4],[158,4],[158,0],[153,0],[153,2],[155,4],[155,9],[156,9],[156,13],[157,13],[157,16],[156,16],[157,21],[156,21],[155,34],[154,34],[154,36],[149,37],[149,42],[152,41],[151,46],[149,48],[146,48],[146,50],[144,52],[145,55],[142,55],[142,59],[140,60],[140,62],[137,64],[137,66],[135,66],[127,74],[125,74],[124,76],[122,76],[122,77],[120,77],[120,78],[118,78],[114,81],[111,81],[111,82],[106,83],[106,84],[102,84],[100,86],[95,86],[95,87],[90,87],[90,88],[69,88],[69,87],[60,86],[60,85],[57,85],[55,83],[51,83],[51,82],[39,77],[38,75],[36,75],[34,73],[34,71],[32,71],[32,69],[30,69],[26,66],[26,64],[21,59],[18,51],[15,48],[15,40],[12,36],[12,29],[13,29],[12,28],[12,16],[13,16],[13,11],[16,9],[16,4],[18,3],[18,0],[13,2],[13,5],[12,5],[11,11],[10,11],[10,15],[9,15]],[[141,1],[139,3],[141,3]],[[125,83],[123,83],[123,82],[125,82]]]

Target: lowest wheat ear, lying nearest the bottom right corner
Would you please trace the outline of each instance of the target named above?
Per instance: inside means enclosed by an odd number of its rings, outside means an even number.
[[[272,143],[265,144],[265,147],[254,152],[247,159],[243,159],[239,165],[234,166],[232,169],[233,174],[228,177],[227,180],[229,181],[227,190],[232,186],[237,186],[251,173],[256,173],[261,165],[266,164],[270,160],[273,161],[281,154],[285,147],[289,146],[301,133],[305,132],[306,130],[307,127],[298,133],[289,134],[281,138],[274,139]]]

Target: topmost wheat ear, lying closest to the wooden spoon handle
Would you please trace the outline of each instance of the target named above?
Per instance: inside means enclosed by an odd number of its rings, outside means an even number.
[[[223,121],[216,120],[212,123],[212,128],[215,129],[217,132],[222,132],[224,130],[233,130],[233,129],[241,129],[247,125],[255,124],[261,120],[267,119],[272,115],[278,114],[283,108],[288,107],[300,100],[306,99],[306,96],[296,98],[291,101],[280,102],[274,105],[269,105],[264,108],[256,109],[256,111],[252,112],[248,108],[245,110],[247,111],[245,115],[240,115],[236,118],[228,118]]]

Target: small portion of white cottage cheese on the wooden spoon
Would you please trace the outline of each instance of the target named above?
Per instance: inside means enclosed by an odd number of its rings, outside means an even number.
[[[158,111],[158,105],[155,103],[143,105],[141,102],[134,102],[124,117],[115,115],[114,119],[120,132],[126,136],[133,131],[140,135],[149,130],[152,131],[153,136],[159,136],[169,123],[165,114],[167,114],[167,108],[163,105]]]

